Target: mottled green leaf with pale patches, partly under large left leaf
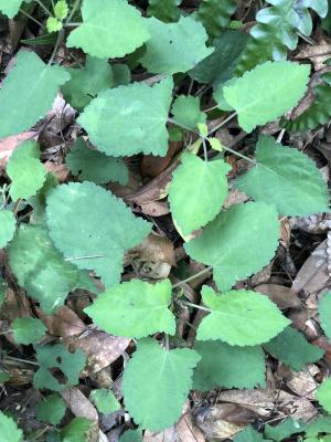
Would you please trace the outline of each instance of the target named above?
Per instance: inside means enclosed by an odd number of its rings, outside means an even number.
[[[63,260],[42,227],[21,224],[8,253],[19,285],[49,315],[64,304],[68,292],[78,287],[96,291],[86,272]]]

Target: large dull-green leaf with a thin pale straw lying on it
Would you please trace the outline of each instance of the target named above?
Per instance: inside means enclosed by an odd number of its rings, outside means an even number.
[[[151,230],[121,200],[88,181],[54,189],[46,214],[55,246],[77,267],[94,270],[106,287],[119,282],[125,251]]]

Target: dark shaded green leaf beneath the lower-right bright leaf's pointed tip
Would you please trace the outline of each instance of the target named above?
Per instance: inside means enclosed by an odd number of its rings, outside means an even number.
[[[324,351],[307,341],[292,327],[287,327],[280,335],[264,345],[265,349],[295,371],[300,371],[306,364],[317,362]]]

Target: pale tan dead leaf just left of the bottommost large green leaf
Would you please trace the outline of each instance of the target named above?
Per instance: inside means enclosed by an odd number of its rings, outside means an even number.
[[[110,336],[104,332],[93,330],[84,337],[68,337],[64,340],[71,351],[82,348],[86,355],[83,377],[108,367],[119,358],[129,346],[131,339]]]

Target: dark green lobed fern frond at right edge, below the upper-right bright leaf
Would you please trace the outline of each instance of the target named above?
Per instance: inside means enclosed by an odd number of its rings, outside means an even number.
[[[295,119],[281,118],[280,125],[289,131],[313,130],[329,122],[331,116],[331,87],[319,84],[313,90],[314,99],[301,115]]]

